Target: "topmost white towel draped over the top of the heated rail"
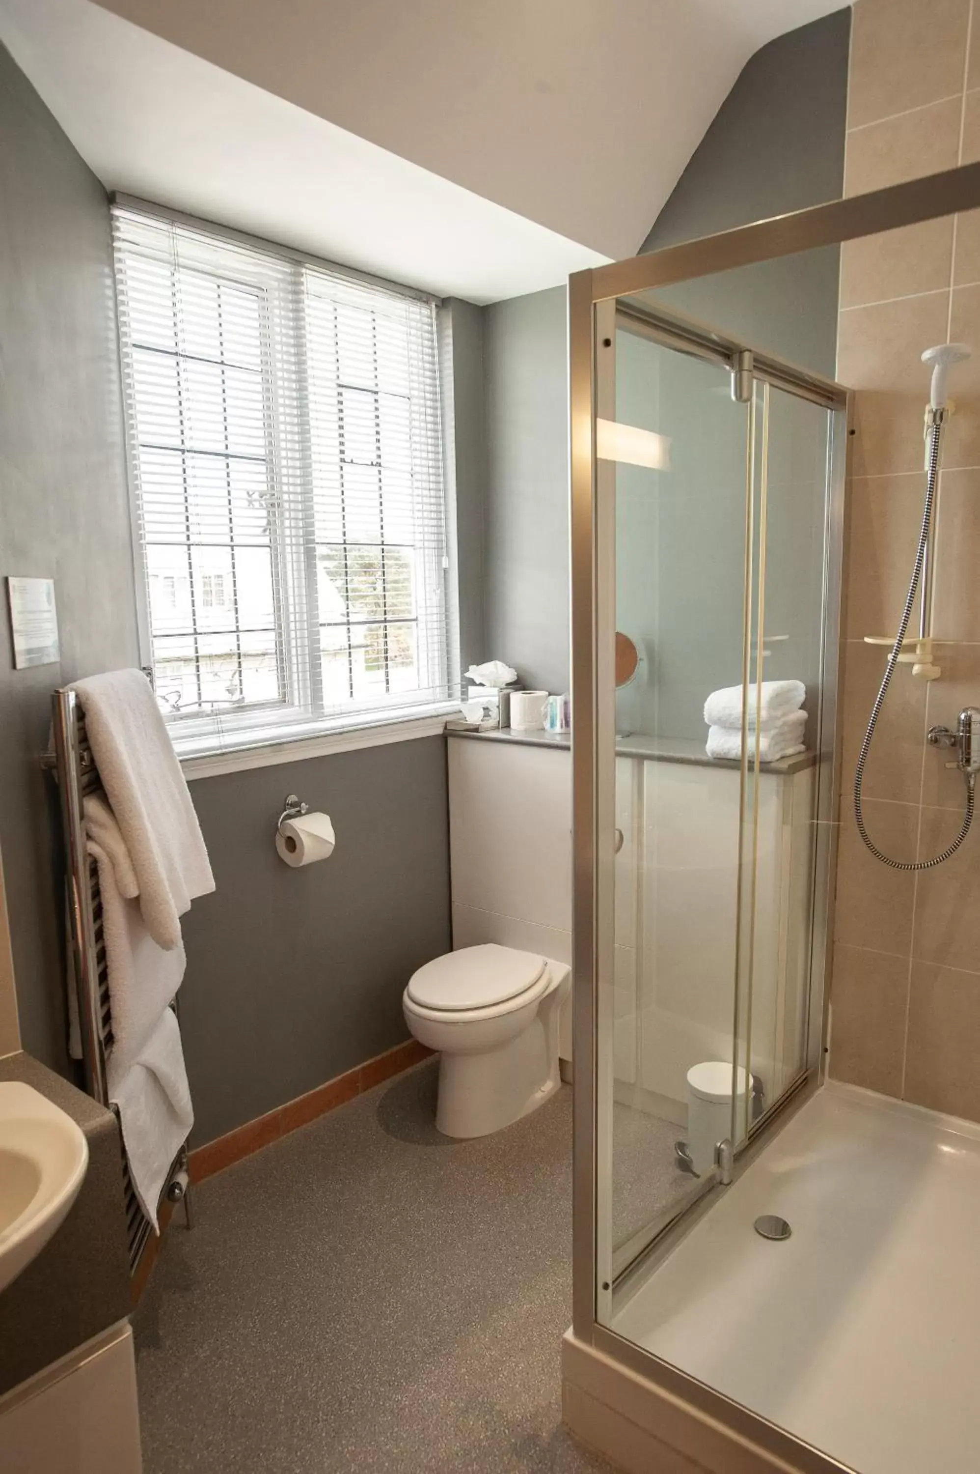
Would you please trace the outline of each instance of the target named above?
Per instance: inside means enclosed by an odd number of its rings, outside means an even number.
[[[174,746],[141,671],[75,682],[88,741],[139,881],[153,940],[180,946],[180,917],[214,890],[208,850]]]

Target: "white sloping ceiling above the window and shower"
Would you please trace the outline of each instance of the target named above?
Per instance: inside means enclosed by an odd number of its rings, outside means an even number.
[[[749,56],[839,4],[0,0],[0,40],[108,189],[486,302],[637,251]]]

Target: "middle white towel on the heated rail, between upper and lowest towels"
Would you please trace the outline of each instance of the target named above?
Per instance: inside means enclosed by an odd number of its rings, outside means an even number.
[[[112,1005],[112,1052],[115,1077],[136,1063],[161,1014],[177,993],[184,976],[184,949],[178,943],[164,951],[150,936],[136,877],[112,809],[100,799],[85,799],[88,853],[99,867],[102,930],[106,942],[109,1002]],[[97,837],[96,837],[97,836]],[[122,890],[122,886],[127,890]]]

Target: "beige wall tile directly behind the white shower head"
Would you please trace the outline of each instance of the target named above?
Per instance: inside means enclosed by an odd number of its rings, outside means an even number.
[[[840,314],[837,377],[858,391],[855,476],[921,472],[923,408],[928,386],[921,354],[933,343],[946,342],[948,315],[949,292],[855,307]]]

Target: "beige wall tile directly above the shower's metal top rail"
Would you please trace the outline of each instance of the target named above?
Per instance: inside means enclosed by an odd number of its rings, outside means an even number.
[[[959,97],[903,112],[847,134],[844,195],[952,170],[959,156]]]

